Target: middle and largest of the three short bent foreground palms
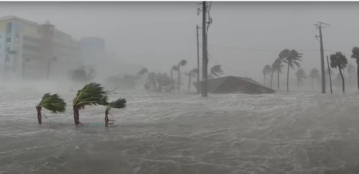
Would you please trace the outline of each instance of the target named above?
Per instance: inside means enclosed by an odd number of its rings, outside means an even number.
[[[101,87],[101,84],[90,83],[85,85],[81,90],[77,91],[76,97],[73,101],[74,107],[74,122],[75,124],[82,124],[79,119],[79,110],[84,109],[85,106],[92,105],[108,105],[107,92]]]

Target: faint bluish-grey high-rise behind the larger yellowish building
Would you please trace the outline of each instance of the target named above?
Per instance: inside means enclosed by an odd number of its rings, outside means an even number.
[[[106,56],[105,40],[99,37],[83,37],[80,41],[84,65],[99,65]]]

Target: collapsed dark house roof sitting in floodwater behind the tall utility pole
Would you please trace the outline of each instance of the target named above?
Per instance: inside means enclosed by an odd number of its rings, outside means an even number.
[[[264,94],[276,91],[246,77],[227,76],[210,79],[208,82],[208,93],[239,93],[239,94]],[[194,82],[197,92],[202,92],[202,81]]]

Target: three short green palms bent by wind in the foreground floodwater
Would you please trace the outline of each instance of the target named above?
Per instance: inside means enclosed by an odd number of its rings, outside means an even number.
[[[108,103],[108,91],[104,90],[104,87],[101,84],[90,83],[85,85],[81,90],[77,91],[76,97],[73,101],[73,110],[74,110],[74,122],[76,125],[82,124],[79,118],[79,111],[84,109],[85,106],[92,105],[106,105],[105,109],[105,126],[107,127],[109,122],[115,122],[115,120],[110,120],[109,115],[112,108],[124,108],[126,107],[126,99],[119,98],[116,101]],[[53,113],[64,113],[66,110],[66,103],[59,95],[50,93],[45,93],[42,97],[41,102],[36,105],[36,110],[38,112],[38,123],[42,123],[41,110],[49,110]],[[111,115],[112,116],[112,115]]]

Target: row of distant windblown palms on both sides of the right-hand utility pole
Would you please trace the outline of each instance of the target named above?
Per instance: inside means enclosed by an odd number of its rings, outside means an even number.
[[[357,68],[357,81],[358,81],[358,90],[359,90],[359,47],[354,47],[352,49],[352,55],[351,57],[356,59],[358,68]],[[289,50],[289,49],[285,49],[282,52],[279,53],[278,58],[273,62],[272,66],[269,65],[265,65],[264,69],[262,70],[263,73],[263,84],[265,85],[265,79],[266,79],[266,75],[270,75],[271,79],[270,79],[270,87],[272,88],[272,81],[273,81],[273,74],[274,72],[277,72],[278,74],[278,89],[279,89],[279,74],[282,73],[282,68],[284,67],[284,65],[282,65],[282,63],[286,63],[288,64],[288,69],[287,69],[287,92],[289,92],[289,68],[294,69],[294,67],[300,67],[299,61],[301,61],[302,58],[302,53],[299,53],[295,50]],[[336,52],[335,54],[331,54],[330,55],[330,67],[331,68],[335,68],[339,70],[340,73],[340,77],[342,80],[342,90],[343,92],[345,92],[345,84],[344,84],[344,76],[343,73],[344,71],[342,71],[344,68],[346,68],[348,66],[348,60],[345,57],[344,54],[342,54],[341,52]],[[329,74],[332,73],[332,71],[330,69],[326,70],[326,73]],[[348,73],[349,73],[349,79],[351,80],[351,74],[355,72],[355,67],[352,64],[349,64],[348,66]],[[303,69],[299,69],[296,73],[295,73],[296,77],[297,77],[297,83],[298,83],[298,88],[299,88],[299,84],[302,82],[302,79],[306,78],[305,72]],[[313,88],[313,79],[320,79],[320,73],[319,70],[317,69],[312,69],[310,71],[309,74],[309,78],[311,78],[311,82],[312,82],[312,88]],[[351,83],[351,82],[350,82]]]

